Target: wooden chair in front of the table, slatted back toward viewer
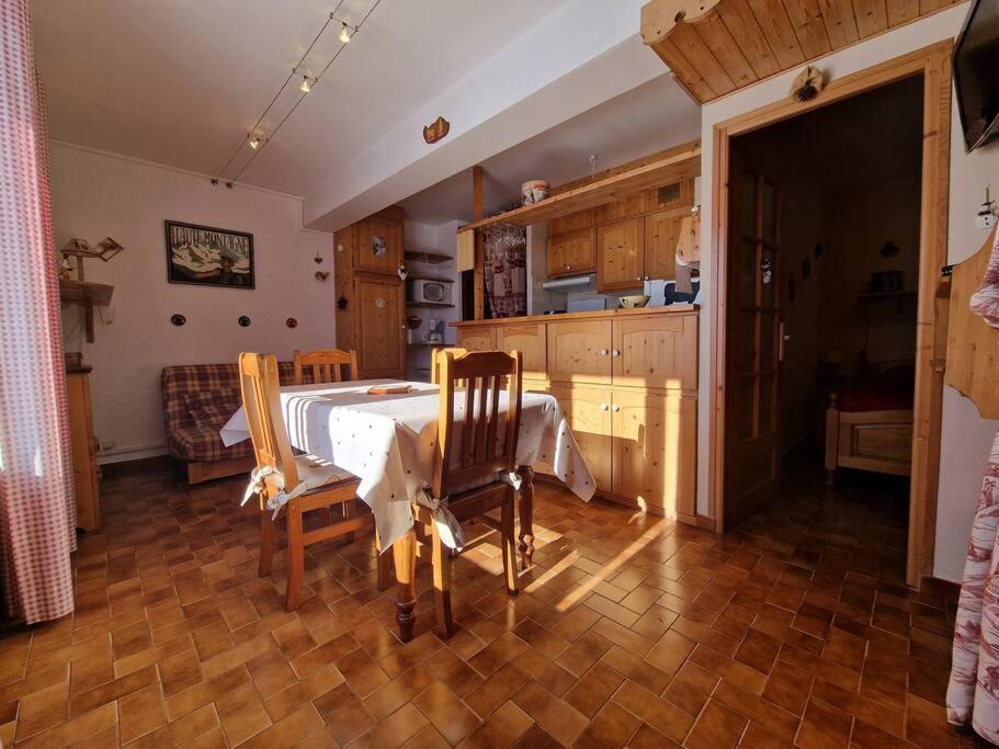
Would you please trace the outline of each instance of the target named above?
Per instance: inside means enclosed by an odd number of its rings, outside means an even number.
[[[516,595],[516,538],[514,534],[515,490],[502,480],[516,468],[516,440],[521,419],[521,354],[478,351],[455,356],[436,352],[441,386],[438,452],[432,492],[447,498],[447,508],[458,522],[479,518],[500,533],[507,592]],[[464,381],[462,388],[458,383]],[[508,408],[499,410],[506,386]],[[455,423],[455,396],[463,398],[461,431]],[[502,431],[501,430],[502,424]],[[472,488],[468,488],[472,487]],[[487,512],[500,509],[496,521]],[[413,506],[419,552],[427,546],[433,561],[433,591],[438,623],[446,637],[454,634],[451,614],[451,549],[444,546],[433,513]],[[421,554],[422,556],[422,554]]]

